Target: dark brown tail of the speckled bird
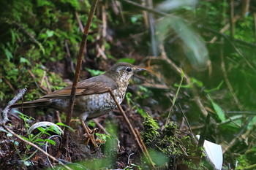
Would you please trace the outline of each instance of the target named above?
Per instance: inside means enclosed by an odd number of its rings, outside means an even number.
[[[48,107],[50,105],[50,102],[48,100],[45,100],[45,98],[39,98],[34,101],[26,101],[20,104],[12,104],[11,108],[33,108],[33,107]]]

